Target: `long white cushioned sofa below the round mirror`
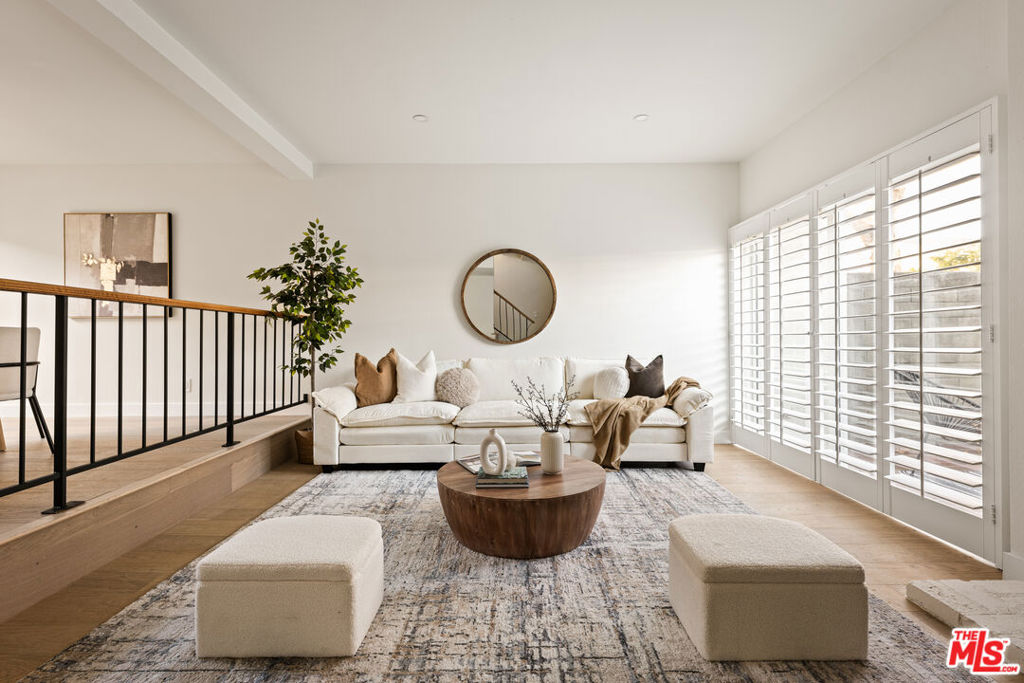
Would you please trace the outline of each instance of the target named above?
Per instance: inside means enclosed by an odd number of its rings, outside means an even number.
[[[313,462],[325,470],[358,463],[442,463],[479,452],[488,429],[497,429],[515,450],[536,450],[541,429],[519,415],[512,380],[532,378],[548,393],[574,378],[580,396],[569,405],[562,426],[565,453],[592,460],[593,428],[583,407],[594,400],[594,377],[622,367],[622,360],[582,358],[470,358],[437,364],[438,374],[455,367],[469,369],[480,384],[477,402],[459,409],[441,401],[392,402],[356,408],[354,384],[314,394]],[[667,383],[671,381],[667,378]],[[696,391],[688,389],[687,392]],[[714,415],[710,405],[693,410],[684,392],[672,408],[655,411],[631,439],[625,461],[685,462],[702,470],[714,458]],[[685,417],[684,417],[685,416]]]

